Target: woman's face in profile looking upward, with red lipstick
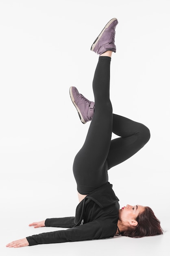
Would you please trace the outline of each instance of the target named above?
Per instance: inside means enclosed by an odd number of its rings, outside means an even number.
[[[126,223],[127,225],[137,225],[134,221],[136,220],[139,213],[144,211],[145,207],[142,205],[130,205],[127,204],[126,206],[119,209],[119,220]]]

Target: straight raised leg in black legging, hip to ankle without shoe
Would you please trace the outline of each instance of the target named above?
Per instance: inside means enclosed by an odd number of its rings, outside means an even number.
[[[108,181],[107,155],[112,133],[112,105],[109,99],[111,57],[100,56],[96,66],[93,91],[95,112],[85,143],[77,153],[73,172],[78,192],[87,195]]]

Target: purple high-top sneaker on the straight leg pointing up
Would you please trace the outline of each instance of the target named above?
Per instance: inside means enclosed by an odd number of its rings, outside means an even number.
[[[115,29],[118,25],[118,20],[116,18],[111,19],[107,25],[104,27],[100,35],[96,38],[92,44],[91,51],[96,52],[96,54],[101,55],[106,51],[116,52],[115,45]]]

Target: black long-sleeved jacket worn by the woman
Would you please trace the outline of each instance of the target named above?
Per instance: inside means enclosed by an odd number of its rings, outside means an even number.
[[[77,206],[75,217],[46,219],[46,227],[62,227],[59,230],[28,236],[29,245],[64,243],[82,240],[110,238],[116,234],[119,199],[112,184],[101,186],[89,193]]]

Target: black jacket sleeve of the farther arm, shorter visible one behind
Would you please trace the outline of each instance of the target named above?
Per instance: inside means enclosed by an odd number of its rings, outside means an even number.
[[[51,218],[46,219],[45,226],[46,227],[74,227],[75,217],[65,217],[65,218]]]

